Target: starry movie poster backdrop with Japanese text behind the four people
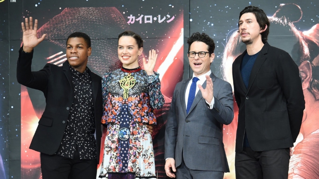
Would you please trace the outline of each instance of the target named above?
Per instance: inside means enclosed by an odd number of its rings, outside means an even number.
[[[87,66],[100,76],[121,67],[117,38],[123,31],[134,31],[144,40],[144,53],[139,57],[142,68],[143,56],[148,56],[151,49],[157,50],[154,71],[160,74],[165,104],[155,111],[158,123],[152,139],[156,173],[163,179],[168,178],[164,171],[167,112],[175,85],[193,73],[187,57],[187,38],[192,33],[204,32],[214,39],[211,71],[233,85],[232,63],[246,48],[237,32],[239,13],[249,5],[258,6],[267,14],[271,21],[269,44],[287,51],[302,77],[306,109],[290,159],[289,178],[319,178],[319,1],[310,0],[0,0],[4,14],[0,16],[0,178],[42,178],[40,153],[29,149],[29,145],[45,109],[45,98],[40,91],[21,86],[16,79],[24,18],[38,19],[39,37],[47,34],[34,48],[33,71],[41,70],[47,63],[61,66],[66,61],[66,39],[73,32],[91,37],[92,55]],[[225,179],[235,179],[235,101],[234,113],[233,122],[223,126],[230,167]],[[104,144],[106,128],[102,130]],[[101,149],[100,159],[103,146]]]

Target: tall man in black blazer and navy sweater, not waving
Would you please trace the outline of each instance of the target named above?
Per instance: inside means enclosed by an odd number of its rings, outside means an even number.
[[[284,179],[305,108],[298,66],[287,52],[268,44],[270,24],[263,10],[249,6],[239,18],[247,50],[233,63],[239,108],[236,179]]]

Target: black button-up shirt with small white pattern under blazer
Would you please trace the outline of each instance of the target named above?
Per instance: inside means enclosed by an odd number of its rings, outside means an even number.
[[[57,155],[73,159],[78,152],[80,159],[96,159],[95,123],[92,80],[85,69],[80,73],[70,66],[72,72],[73,104],[63,139]]]

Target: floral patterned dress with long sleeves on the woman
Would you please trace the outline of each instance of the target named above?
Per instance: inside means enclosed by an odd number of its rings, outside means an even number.
[[[153,109],[164,104],[159,74],[122,67],[103,75],[102,93],[102,123],[108,130],[100,178],[155,179],[152,137],[145,124],[156,124]]]

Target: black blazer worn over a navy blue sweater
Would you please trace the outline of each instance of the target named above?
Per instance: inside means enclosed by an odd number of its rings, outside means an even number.
[[[234,95],[239,108],[235,151],[242,151],[245,130],[254,151],[292,147],[305,108],[298,66],[287,52],[265,43],[251,70],[247,89],[240,73],[246,53],[233,63]]]

